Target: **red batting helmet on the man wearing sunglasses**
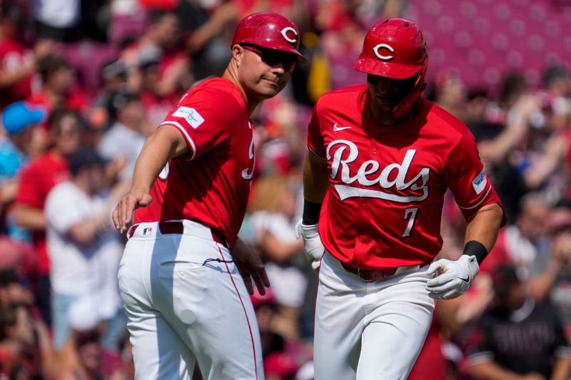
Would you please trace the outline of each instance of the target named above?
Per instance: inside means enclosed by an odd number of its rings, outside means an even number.
[[[307,62],[298,51],[299,30],[289,19],[275,13],[257,13],[246,16],[236,27],[232,46],[249,43],[261,48],[273,48],[298,56],[301,63]]]

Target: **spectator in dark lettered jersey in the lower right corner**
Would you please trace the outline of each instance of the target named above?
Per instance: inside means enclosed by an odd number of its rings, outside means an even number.
[[[492,272],[495,307],[460,335],[475,379],[569,378],[570,347],[549,304],[536,303],[514,267]]]

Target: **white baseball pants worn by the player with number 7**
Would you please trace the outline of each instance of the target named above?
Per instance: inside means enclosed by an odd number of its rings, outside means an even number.
[[[315,307],[315,380],[405,380],[434,312],[426,269],[365,282],[325,252]]]

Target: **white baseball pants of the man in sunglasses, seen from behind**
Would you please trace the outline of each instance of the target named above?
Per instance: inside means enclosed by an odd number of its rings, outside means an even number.
[[[183,234],[136,226],[118,270],[136,379],[191,379],[196,361],[205,380],[264,379],[256,314],[231,260],[199,223],[183,220]]]

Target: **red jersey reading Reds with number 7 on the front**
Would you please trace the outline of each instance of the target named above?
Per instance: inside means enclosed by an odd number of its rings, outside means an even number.
[[[373,120],[367,86],[332,91],[315,105],[308,147],[330,173],[319,235],[341,262],[383,269],[432,260],[447,188],[465,217],[500,203],[468,128],[421,104],[394,128]]]

